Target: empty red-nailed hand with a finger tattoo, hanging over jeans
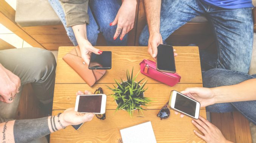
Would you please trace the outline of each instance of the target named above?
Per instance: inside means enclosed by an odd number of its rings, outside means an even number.
[[[136,0],[123,0],[123,3],[117,12],[115,20],[110,23],[110,26],[117,24],[116,33],[114,35],[114,40],[120,35],[120,40],[123,39],[126,33],[133,29],[134,19],[136,15]]]

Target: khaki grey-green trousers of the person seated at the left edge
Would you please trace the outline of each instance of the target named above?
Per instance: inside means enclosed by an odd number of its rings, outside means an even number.
[[[21,80],[20,92],[14,101],[10,104],[0,102],[0,117],[15,118],[23,85],[27,83],[31,83],[40,102],[52,102],[56,60],[50,51],[40,48],[0,50],[0,63]]]

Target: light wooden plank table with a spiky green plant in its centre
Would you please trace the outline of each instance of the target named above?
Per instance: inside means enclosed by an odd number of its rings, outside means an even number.
[[[53,99],[52,114],[63,112],[66,108],[74,107],[76,102],[76,92],[78,90],[89,90],[94,92],[98,87],[103,88],[106,95],[111,90],[106,85],[112,86],[114,78],[126,78],[126,69],[130,71],[134,67],[134,73],[140,70],[139,63],[143,59],[151,59],[147,53],[147,47],[97,47],[103,51],[112,51],[112,69],[93,87],[89,87],[85,81],[71,68],[62,57],[74,47],[59,47],[57,60],[56,84]],[[173,87],[159,83],[143,74],[139,74],[137,80],[144,77],[148,79],[145,87],[146,97],[154,98],[151,106],[145,107],[144,117],[140,117],[137,111],[130,117],[124,110],[115,112],[117,107],[113,98],[107,96],[106,119],[99,120],[96,117],[91,122],[86,122],[76,131],[72,126],[51,134],[51,143],[117,143],[120,142],[120,129],[134,126],[140,123],[151,121],[154,134],[158,143],[163,142],[204,142],[197,137],[193,129],[196,127],[191,123],[191,118],[185,116],[180,118],[171,110],[168,119],[160,120],[156,116],[160,108],[168,101],[171,90],[181,91],[187,87],[202,87],[202,75],[200,68],[198,47],[174,47],[178,53],[175,57],[177,73],[180,74],[180,83]],[[205,108],[201,108],[200,115],[206,117]],[[196,129],[198,131],[198,129]]]

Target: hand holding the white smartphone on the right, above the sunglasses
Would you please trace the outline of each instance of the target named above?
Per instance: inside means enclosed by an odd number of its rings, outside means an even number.
[[[200,107],[206,107],[216,103],[214,93],[210,88],[191,87],[181,91],[180,93],[200,102]],[[175,114],[179,113],[175,111]],[[180,114],[180,117],[184,117],[184,115]]]

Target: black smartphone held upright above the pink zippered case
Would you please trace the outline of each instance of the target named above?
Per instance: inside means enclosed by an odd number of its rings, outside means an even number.
[[[163,72],[176,72],[172,46],[160,44],[157,47],[156,69]]]

